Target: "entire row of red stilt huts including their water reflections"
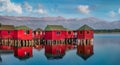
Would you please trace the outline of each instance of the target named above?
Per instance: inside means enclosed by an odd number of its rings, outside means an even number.
[[[77,54],[86,60],[94,53],[93,35],[94,30],[88,25],[76,31],[47,25],[44,31],[38,28],[34,32],[27,26],[0,25],[0,50],[14,50],[14,56],[21,59],[32,57],[33,47],[45,46],[47,59],[60,59],[66,49],[74,48],[77,39]]]

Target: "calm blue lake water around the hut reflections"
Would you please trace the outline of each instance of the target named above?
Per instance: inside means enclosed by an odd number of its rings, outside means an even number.
[[[15,58],[13,53],[0,53],[0,65],[120,65],[120,34],[95,34],[94,54],[87,60],[67,51],[62,59],[48,60],[44,49],[33,50],[33,57],[25,60]]]

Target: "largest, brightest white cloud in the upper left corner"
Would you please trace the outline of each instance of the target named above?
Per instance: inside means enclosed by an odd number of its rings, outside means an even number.
[[[0,11],[22,14],[22,7],[20,4],[12,3],[10,0],[0,0]]]

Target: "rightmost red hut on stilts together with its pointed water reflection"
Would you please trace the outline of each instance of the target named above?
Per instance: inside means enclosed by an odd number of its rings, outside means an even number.
[[[77,54],[86,60],[93,54],[93,29],[84,25],[78,29],[77,37]]]

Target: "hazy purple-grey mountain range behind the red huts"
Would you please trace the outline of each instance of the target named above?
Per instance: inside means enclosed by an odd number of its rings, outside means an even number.
[[[84,24],[87,24],[94,29],[120,29],[120,21],[108,22],[95,17],[88,18],[64,18],[58,17],[17,17],[17,16],[0,16],[0,23],[9,25],[27,25],[30,28],[38,27],[45,28],[48,24],[63,25],[70,29],[78,29]]]

